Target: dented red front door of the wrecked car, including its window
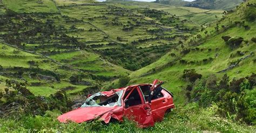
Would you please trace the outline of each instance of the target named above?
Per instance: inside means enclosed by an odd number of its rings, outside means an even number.
[[[124,98],[124,114],[129,120],[137,122],[139,127],[154,125],[151,107],[149,104],[145,104],[138,87],[132,88]]]

